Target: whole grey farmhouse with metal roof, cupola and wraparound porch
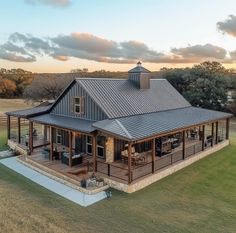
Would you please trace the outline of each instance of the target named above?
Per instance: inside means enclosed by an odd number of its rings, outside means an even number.
[[[40,169],[77,181],[94,172],[126,192],[229,144],[231,114],[193,107],[149,76],[138,63],[128,79],[76,78],[53,104],[6,113],[8,143]]]

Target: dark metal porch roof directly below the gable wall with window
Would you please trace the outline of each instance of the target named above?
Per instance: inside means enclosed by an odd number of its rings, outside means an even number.
[[[92,126],[94,121],[82,120],[79,118],[58,116],[54,114],[44,114],[30,118],[34,122],[41,124],[52,125],[60,128],[91,133],[96,129]]]

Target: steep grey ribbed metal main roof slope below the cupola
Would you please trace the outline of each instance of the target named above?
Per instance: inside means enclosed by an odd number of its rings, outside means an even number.
[[[78,78],[76,80],[108,118],[191,106],[165,79],[151,79],[150,89],[139,89],[126,79]]]

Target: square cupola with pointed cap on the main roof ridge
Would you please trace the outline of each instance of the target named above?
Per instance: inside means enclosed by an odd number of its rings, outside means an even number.
[[[128,71],[128,78],[135,84],[139,89],[150,88],[150,71],[142,66],[139,61],[137,66]]]

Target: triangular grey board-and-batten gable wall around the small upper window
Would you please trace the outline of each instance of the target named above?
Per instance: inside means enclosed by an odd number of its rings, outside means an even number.
[[[84,97],[84,114],[78,115],[74,113],[72,98],[75,96]],[[78,83],[75,83],[69,91],[65,93],[61,100],[54,106],[51,113],[93,121],[100,121],[107,118],[103,110],[92,100],[90,95]]]

